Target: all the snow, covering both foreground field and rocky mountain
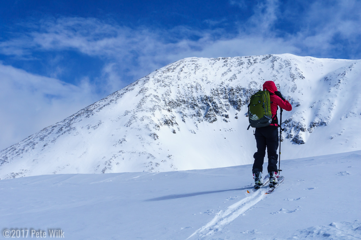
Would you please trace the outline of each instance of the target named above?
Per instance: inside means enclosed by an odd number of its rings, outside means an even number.
[[[360,71],[361,60],[291,54],[169,64],[0,151],[1,230],[361,239]],[[245,116],[265,80],[293,107],[282,116],[285,180],[267,195],[252,191]]]

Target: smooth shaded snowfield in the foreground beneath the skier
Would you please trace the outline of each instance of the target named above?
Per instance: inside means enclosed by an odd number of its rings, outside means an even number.
[[[356,151],[284,160],[285,180],[269,195],[266,188],[251,191],[251,165],[1,180],[0,234],[57,229],[71,240],[361,239],[360,158]]]

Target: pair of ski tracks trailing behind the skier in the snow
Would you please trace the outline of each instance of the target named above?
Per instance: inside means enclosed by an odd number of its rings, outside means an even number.
[[[221,210],[210,222],[199,228],[187,239],[190,239],[198,233],[200,233],[198,239],[202,239],[205,236],[212,235],[218,231],[221,231],[223,226],[232,222],[234,219],[245,213],[248,209],[256,205],[259,201],[264,199],[267,196],[265,193],[266,190],[260,189],[255,193],[245,197],[244,199],[230,205],[226,210]],[[209,231],[206,234],[201,233],[207,229]]]

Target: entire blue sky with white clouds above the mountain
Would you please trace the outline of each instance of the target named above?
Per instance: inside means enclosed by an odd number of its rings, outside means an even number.
[[[361,58],[356,0],[0,3],[0,149],[182,58]]]

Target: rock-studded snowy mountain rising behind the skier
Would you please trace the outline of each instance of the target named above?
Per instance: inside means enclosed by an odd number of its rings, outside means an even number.
[[[0,178],[174,171],[249,164],[249,96],[273,80],[282,159],[361,149],[361,60],[291,54],[186,58],[0,152]]]

